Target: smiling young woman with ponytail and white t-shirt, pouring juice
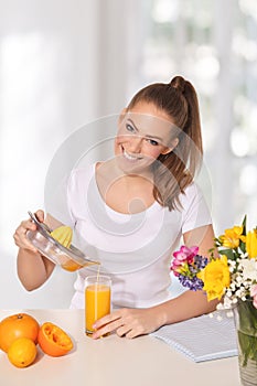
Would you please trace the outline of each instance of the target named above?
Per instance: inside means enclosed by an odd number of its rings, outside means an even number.
[[[122,110],[113,159],[72,172],[71,225],[113,280],[114,311],[96,322],[93,337],[111,331],[135,337],[215,309],[203,291],[172,299],[169,290],[169,267],[181,237],[188,246],[197,245],[201,255],[213,247],[211,216],[193,182],[201,159],[196,93],[175,76],[142,88]],[[42,211],[36,215],[44,221]],[[45,222],[56,227],[47,216]],[[26,239],[34,228],[23,221],[14,234],[18,274],[28,290],[54,269]],[[84,307],[84,280],[93,272],[93,266],[78,271],[72,308]]]

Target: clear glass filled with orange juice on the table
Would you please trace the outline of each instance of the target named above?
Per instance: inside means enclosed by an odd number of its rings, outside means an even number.
[[[92,336],[93,324],[110,313],[111,280],[108,276],[88,276],[85,280],[85,332]]]

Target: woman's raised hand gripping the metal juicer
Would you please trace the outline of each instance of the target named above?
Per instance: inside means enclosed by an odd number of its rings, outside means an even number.
[[[44,221],[44,212],[39,210],[35,212],[35,216],[39,219],[40,223],[43,223]],[[33,253],[36,253],[38,249],[29,242],[28,237],[26,237],[26,232],[28,230],[35,230],[36,229],[36,225],[32,222],[32,219],[24,219],[23,222],[21,222],[21,224],[18,226],[13,238],[14,238],[14,243],[19,248],[24,248],[24,249],[29,249]]]

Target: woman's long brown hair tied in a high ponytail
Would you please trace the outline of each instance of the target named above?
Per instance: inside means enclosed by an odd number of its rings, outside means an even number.
[[[189,81],[175,76],[168,84],[156,83],[139,90],[127,109],[132,109],[140,101],[151,103],[163,110],[179,129],[175,149],[160,154],[153,163],[153,196],[171,211],[180,205],[179,194],[192,183],[202,161],[197,96]]]

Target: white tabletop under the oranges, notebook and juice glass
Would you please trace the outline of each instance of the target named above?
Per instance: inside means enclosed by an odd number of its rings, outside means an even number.
[[[0,320],[26,312],[39,323],[53,322],[74,341],[62,357],[41,352],[34,364],[14,367],[0,352],[1,386],[238,386],[237,357],[194,363],[151,336],[133,340],[113,334],[92,340],[84,334],[82,310],[0,310]]]

